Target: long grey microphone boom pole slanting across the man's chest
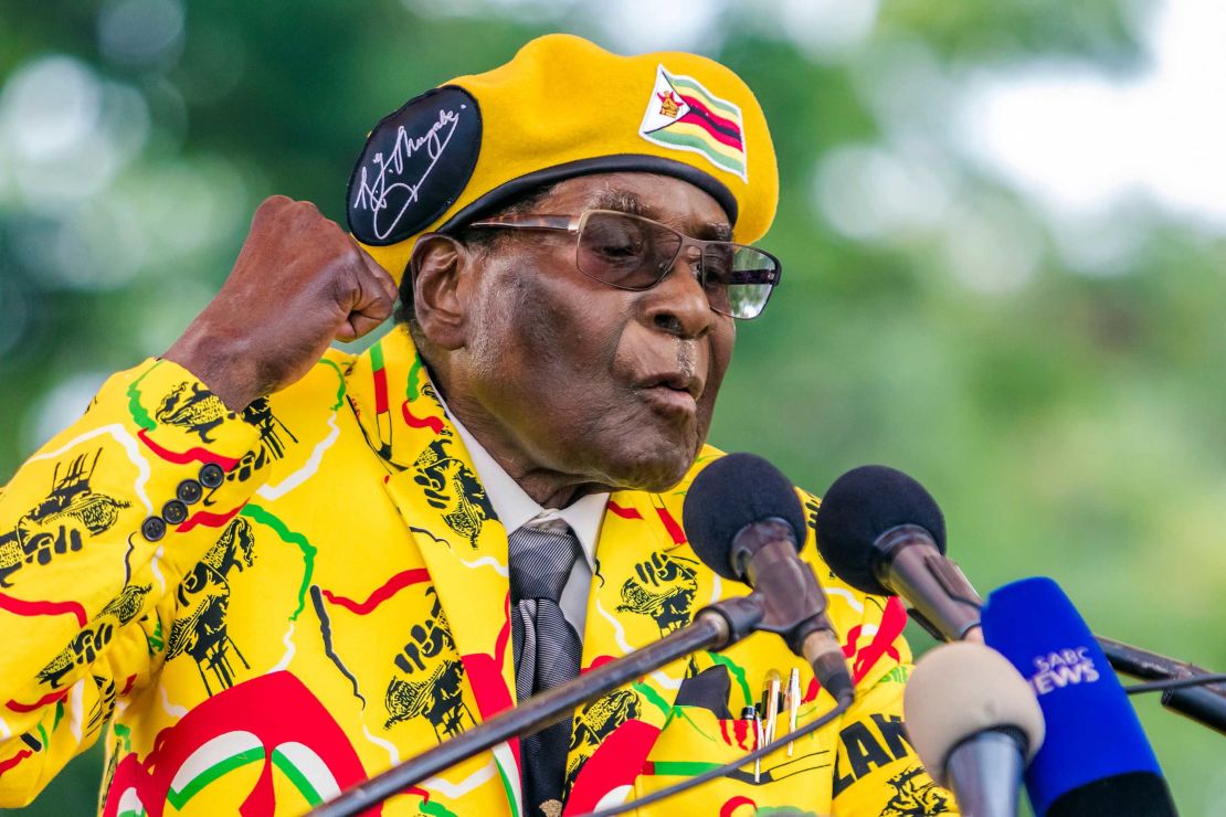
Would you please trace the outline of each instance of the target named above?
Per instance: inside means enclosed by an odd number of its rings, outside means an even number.
[[[691,623],[656,643],[533,696],[383,774],[346,789],[335,800],[313,810],[310,817],[348,817],[371,808],[394,794],[511,737],[535,735],[565,718],[575,707],[595,701],[678,658],[700,649],[720,650],[729,647],[756,630],[764,617],[767,614],[759,593],[725,599],[702,608]],[[774,616],[769,619],[771,617]]]

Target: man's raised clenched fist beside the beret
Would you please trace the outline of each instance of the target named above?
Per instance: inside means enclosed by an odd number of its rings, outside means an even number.
[[[383,323],[396,283],[314,205],[266,198],[217,296],[163,355],[228,408],[303,377],[333,338]]]

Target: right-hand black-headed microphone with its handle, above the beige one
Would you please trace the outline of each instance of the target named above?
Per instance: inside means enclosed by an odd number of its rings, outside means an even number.
[[[873,595],[899,595],[944,641],[980,639],[980,595],[945,557],[945,518],[923,485],[885,465],[853,468],[821,500],[818,550],[835,576]]]

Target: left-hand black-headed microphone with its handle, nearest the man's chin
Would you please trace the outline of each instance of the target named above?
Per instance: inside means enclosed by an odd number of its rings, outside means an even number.
[[[825,615],[825,593],[797,555],[804,508],[791,480],[761,457],[721,457],[690,485],[682,524],[707,567],[760,595],[766,615],[759,628],[780,632],[836,701],[850,698],[851,674]]]

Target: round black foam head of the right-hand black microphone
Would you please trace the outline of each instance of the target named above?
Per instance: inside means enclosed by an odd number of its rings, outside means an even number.
[[[923,485],[885,465],[861,465],[835,480],[818,508],[821,559],[835,576],[857,590],[893,595],[873,574],[877,538],[900,524],[932,534],[945,552],[945,518]]]

